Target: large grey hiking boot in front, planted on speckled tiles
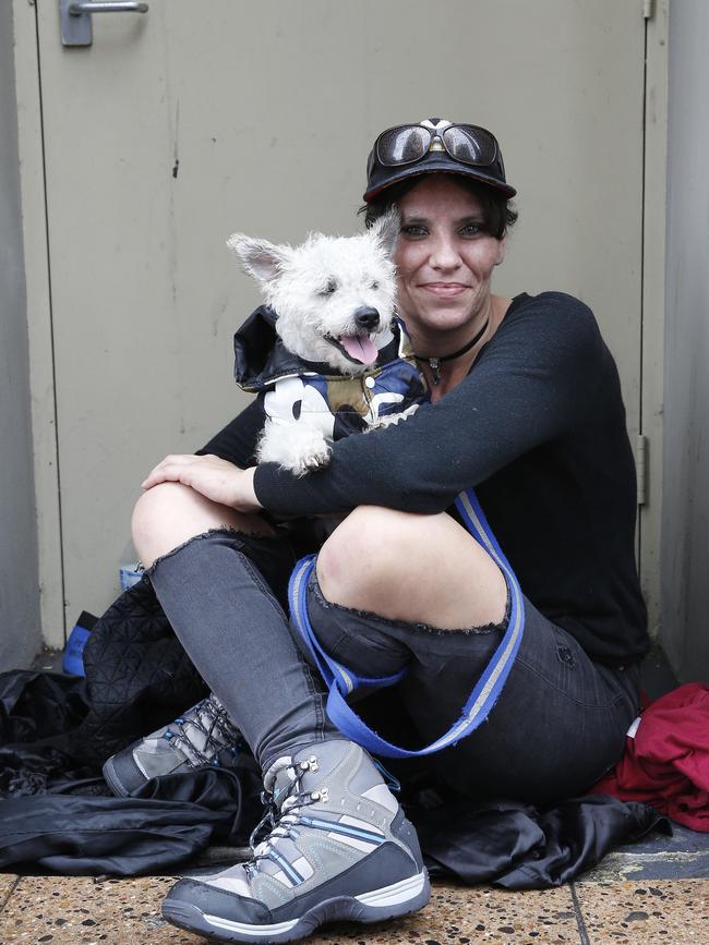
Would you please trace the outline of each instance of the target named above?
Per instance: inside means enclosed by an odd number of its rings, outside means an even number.
[[[337,739],[280,758],[264,786],[269,809],[254,835],[269,829],[253,858],[180,880],[163,902],[169,922],[225,942],[291,942],[323,922],[380,922],[429,901],[416,831],[359,746]]]

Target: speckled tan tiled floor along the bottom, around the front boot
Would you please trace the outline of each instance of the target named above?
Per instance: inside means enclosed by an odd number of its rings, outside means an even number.
[[[168,876],[0,875],[2,945],[199,945],[166,924]],[[382,925],[331,925],[312,945],[709,945],[709,880],[585,882],[543,892],[434,884],[430,905]]]

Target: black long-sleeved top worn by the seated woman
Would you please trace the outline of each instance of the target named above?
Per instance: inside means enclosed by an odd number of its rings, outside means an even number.
[[[244,414],[242,452],[259,424]],[[362,504],[435,513],[471,486],[538,609],[599,662],[647,652],[617,369],[569,295],[518,295],[455,389],[405,423],[334,444],[327,469],[299,478],[266,463],[254,476],[276,516]]]

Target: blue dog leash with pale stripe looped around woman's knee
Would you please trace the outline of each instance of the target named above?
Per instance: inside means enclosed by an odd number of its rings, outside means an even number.
[[[288,585],[290,616],[327,686],[327,715],[343,735],[368,751],[384,758],[418,758],[432,754],[455,744],[474,731],[485,720],[497,701],[514,665],[525,631],[525,607],[519,582],[488,524],[474,492],[467,489],[460,493],[456,498],[456,508],[470,534],[482,545],[505,576],[510,594],[509,621],[502,642],[466,702],[460,718],[445,735],[419,751],[398,748],[381,738],[362,722],[346,701],[346,696],[360,687],[394,686],[404,677],[406,670],[394,676],[366,679],[356,676],[341,663],[328,656],[315,637],[308,616],[307,589],[315,567],[316,556],[309,555],[301,558],[290,577]]]

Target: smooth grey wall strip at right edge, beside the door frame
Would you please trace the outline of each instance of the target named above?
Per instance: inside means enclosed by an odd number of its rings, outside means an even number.
[[[706,0],[671,3],[661,640],[682,681],[709,679],[708,45]]]

